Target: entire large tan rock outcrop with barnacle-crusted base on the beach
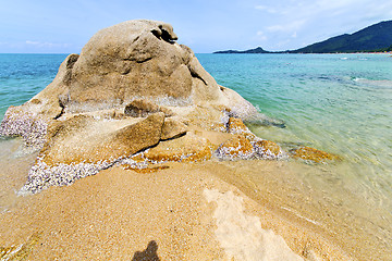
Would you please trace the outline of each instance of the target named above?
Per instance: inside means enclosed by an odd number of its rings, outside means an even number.
[[[157,21],[101,29],[42,91],[9,108],[0,135],[22,136],[39,151],[21,191],[72,184],[113,164],[146,169],[208,160],[213,151],[230,160],[281,158],[278,145],[244,125],[257,119],[256,108],[219,86],[176,39]]]

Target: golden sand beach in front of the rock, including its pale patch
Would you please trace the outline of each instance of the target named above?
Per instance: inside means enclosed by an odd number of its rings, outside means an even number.
[[[1,213],[0,246],[25,246],[19,256],[28,260],[350,260],[335,238],[279,207],[280,192],[271,192],[278,181],[266,185],[268,195],[257,194],[264,195],[258,202],[244,194],[252,181],[238,179],[233,166],[250,162],[168,163],[151,173],[117,166],[15,197],[32,158],[11,157],[1,165],[10,169],[13,187],[2,185],[9,206]],[[260,163],[262,173],[277,167]],[[220,220],[217,209],[232,223]]]

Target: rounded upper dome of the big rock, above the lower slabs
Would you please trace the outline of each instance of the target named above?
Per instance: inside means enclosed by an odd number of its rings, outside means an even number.
[[[63,108],[73,113],[91,111],[138,98],[174,105],[230,103],[242,114],[255,112],[236,92],[219,86],[176,39],[171,25],[156,21],[127,21],[101,29],[81,55],[65,60],[52,84],[56,88],[35,101],[57,115]]]

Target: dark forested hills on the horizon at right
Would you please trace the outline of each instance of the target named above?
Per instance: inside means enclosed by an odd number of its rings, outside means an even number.
[[[297,50],[266,51],[261,47],[245,51],[226,50],[213,53],[347,53],[392,51],[392,21],[380,22],[354,34],[344,34]]]

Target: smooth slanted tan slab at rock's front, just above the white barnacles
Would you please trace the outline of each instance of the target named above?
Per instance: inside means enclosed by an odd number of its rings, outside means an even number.
[[[163,121],[162,112],[137,123],[77,115],[50,129],[40,157],[48,165],[113,162],[157,145]]]

